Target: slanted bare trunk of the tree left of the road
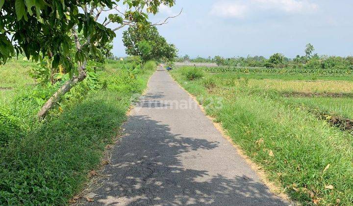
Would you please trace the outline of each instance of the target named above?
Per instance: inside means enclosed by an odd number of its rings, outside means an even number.
[[[78,82],[86,78],[86,61],[82,65],[78,66],[78,76],[72,77],[70,80],[65,82],[43,105],[41,110],[38,112],[37,117],[42,120],[49,112],[49,110],[58,102],[59,98],[69,92]]]

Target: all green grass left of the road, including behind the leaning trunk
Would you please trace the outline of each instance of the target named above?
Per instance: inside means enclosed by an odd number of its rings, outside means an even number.
[[[132,74],[110,64],[97,72],[96,82],[76,85],[44,122],[36,113],[41,98],[54,90],[37,89],[28,66],[1,67],[0,86],[13,90],[1,95],[0,205],[67,205],[99,167],[104,147],[126,120],[131,96],[146,88],[155,67],[147,62]]]

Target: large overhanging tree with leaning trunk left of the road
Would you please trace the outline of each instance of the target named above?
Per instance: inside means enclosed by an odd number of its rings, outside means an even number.
[[[112,41],[114,31],[124,26],[149,26],[148,14],[156,14],[161,4],[173,6],[175,0],[124,0],[126,10],[120,11],[119,0],[0,0],[0,64],[24,53],[38,61],[48,57],[51,68],[62,65],[71,71],[65,82],[43,105],[38,113],[42,119],[59,97],[86,77],[90,56],[101,56],[100,46]],[[102,12],[108,18],[99,22]],[[167,23],[167,18],[164,22]],[[116,28],[108,28],[118,23]],[[82,33],[83,39],[79,38]],[[75,45],[74,57],[70,48]]]

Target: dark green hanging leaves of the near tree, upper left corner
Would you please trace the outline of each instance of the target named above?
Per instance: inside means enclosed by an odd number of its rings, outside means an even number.
[[[2,62],[10,58],[15,50],[17,54],[24,52],[25,56],[38,61],[40,56],[53,58],[53,67],[62,64],[67,69],[73,69],[75,61],[83,61],[88,53],[96,53],[94,42],[110,42],[115,37],[114,32],[94,21],[87,13],[80,13],[79,8],[89,4],[97,6],[103,3],[112,7],[111,0],[92,1],[60,1],[52,0],[6,0],[1,13],[0,45],[6,45],[0,51]],[[70,37],[73,26],[78,25],[84,37],[90,36],[90,42],[76,53],[76,59],[69,58],[73,39]],[[94,35],[92,35],[94,33]],[[9,40],[6,35],[13,35]],[[14,46],[12,42],[15,43]],[[11,55],[10,55],[11,54]],[[75,60],[75,61],[74,61]]]

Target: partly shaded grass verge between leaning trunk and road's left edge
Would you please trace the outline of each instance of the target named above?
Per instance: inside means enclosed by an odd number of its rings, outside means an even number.
[[[77,86],[61,105],[62,112],[6,140],[0,146],[0,205],[67,205],[88,171],[99,165],[104,146],[126,120],[131,96],[146,88],[155,67],[149,62],[133,73],[103,72],[99,90],[77,99],[82,85]]]

